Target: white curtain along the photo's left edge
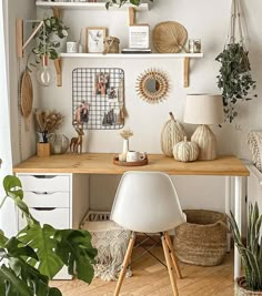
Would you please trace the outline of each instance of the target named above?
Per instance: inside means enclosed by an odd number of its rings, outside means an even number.
[[[8,34],[7,34],[7,3],[0,0],[0,201],[4,197],[2,180],[7,174],[12,174],[11,154],[11,126],[10,126],[10,102],[8,83]],[[0,210],[0,229],[7,236],[17,232],[17,217],[13,204],[9,201]]]

